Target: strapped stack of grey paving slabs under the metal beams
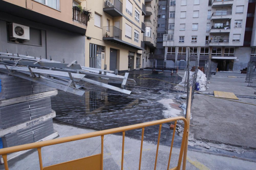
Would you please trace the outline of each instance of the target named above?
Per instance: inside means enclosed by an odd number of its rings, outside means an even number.
[[[51,96],[57,90],[8,74],[0,74],[0,148],[53,139]],[[7,155],[7,160],[20,153]],[[1,158],[1,163],[3,159]]]

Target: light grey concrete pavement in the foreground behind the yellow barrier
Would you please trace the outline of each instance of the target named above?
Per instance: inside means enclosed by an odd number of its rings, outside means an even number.
[[[63,124],[54,124],[60,137],[93,132]],[[82,158],[100,153],[100,137],[62,143],[42,148],[42,161],[44,166],[57,164],[73,159]],[[140,155],[140,140],[125,138],[124,169],[138,169]],[[159,146],[157,169],[167,169],[170,148]],[[179,148],[173,148],[171,167],[177,165]],[[104,169],[121,169],[122,136],[107,135],[104,137]],[[156,145],[144,142],[141,169],[154,169]],[[39,169],[38,154],[36,150],[30,151],[8,162],[9,169]],[[186,169],[255,169],[256,163],[235,158],[188,151]],[[4,165],[0,165],[4,169]]]

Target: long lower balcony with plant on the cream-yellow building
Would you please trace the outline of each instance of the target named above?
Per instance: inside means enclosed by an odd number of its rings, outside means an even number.
[[[122,40],[122,30],[115,26],[106,26],[103,27],[103,40],[110,41],[112,43],[116,43],[119,45],[123,45],[129,48],[133,48],[136,50],[144,50],[144,48],[136,46],[134,44],[128,43]]]

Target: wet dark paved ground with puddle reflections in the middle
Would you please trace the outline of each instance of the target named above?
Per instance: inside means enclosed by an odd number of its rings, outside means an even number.
[[[77,96],[63,91],[51,98],[52,109],[56,111],[55,120],[79,125],[87,128],[103,130],[115,127],[133,125],[137,123],[161,120],[168,116],[180,116],[183,112],[178,107],[179,103],[172,101],[178,92],[170,83],[179,83],[181,77],[173,76],[164,71],[158,75],[150,74],[152,71],[136,70],[129,72],[129,78],[136,83],[127,84],[126,89],[131,90],[130,95],[113,94],[104,88],[86,84],[88,91],[83,96]],[[144,75],[148,74],[148,75]],[[122,75],[122,74],[121,74]],[[142,79],[137,78],[141,76]],[[161,79],[149,80],[145,78]],[[107,82],[103,80],[103,82]],[[171,100],[171,101],[170,101]],[[172,103],[174,112],[169,113],[168,104]],[[167,106],[166,106],[167,104]],[[159,126],[145,128],[144,139],[157,141]],[[140,138],[141,129],[128,131],[126,136]],[[161,143],[170,145],[172,130],[168,124],[162,126]],[[180,137],[176,137],[176,144],[180,145]]]

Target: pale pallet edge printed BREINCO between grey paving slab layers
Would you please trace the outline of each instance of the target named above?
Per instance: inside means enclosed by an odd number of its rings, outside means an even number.
[[[49,113],[49,114],[46,114],[46,115],[43,115],[43,116],[40,116],[40,117],[36,117],[32,120],[25,121],[23,123],[17,124],[17,125],[12,126],[12,127],[8,127],[6,129],[0,129],[0,137],[4,136],[6,134],[15,133],[15,132],[17,132],[18,130],[21,130],[21,129],[36,126],[36,125],[40,124],[41,122],[47,121],[47,120],[52,119],[54,117],[56,117],[56,113],[55,113],[54,110],[51,110],[51,113]]]

